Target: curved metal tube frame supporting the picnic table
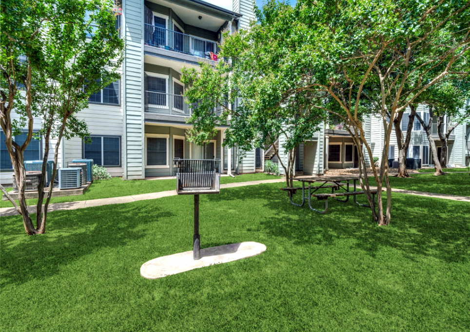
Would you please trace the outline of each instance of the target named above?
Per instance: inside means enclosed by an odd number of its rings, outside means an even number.
[[[289,201],[291,202],[292,205],[296,206],[296,207],[303,207],[304,204],[305,204],[305,183],[308,183],[309,184],[309,207],[311,210],[315,211],[315,212],[318,212],[318,213],[321,213],[321,214],[324,214],[326,213],[326,210],[328,209],[328,200],[325,201],[325,210],[323,211],[320,211],[316,208],[313,208],[312,207],[312,203],[311,203],[311,199],[312,199],[312,195],[318,190],[318,189],[321,189],[323,186],[329,184],[329,183],[334,183],[336,186],[338,187],[341,187],[343,189],[345,189],[347,192],[350,192],[349,191],[349,182],[350,181],[353,181],[354,183],[354,190],[353,191],[356,191],[356,181],[359,180],[359,178],[351,178],[351,177],[348,177],[348,178],[341,178],[341,177],[337,177],[337,178],[328,178],[328,179],[320,179],[320,178],[314,178],[314,179],[292,179],[293,181],[300,181],[302,182],[302,203],[301,204],[296,204],[292,201],[292,194],[289,195]],[[320,181],[319,181],[320,180]],[[324,181],[323,184],[321,184],[321,186],[319,187],[315,187],[315,189],[312,191],[312,184],[314,182],[321,182],[321,181]],[[346,181],[346,187],[344,186],[344,184],[342,183],[342,181]],[[334,188],[332,187],[332,193],[334,193]],[[356,203],[357,205],[361,206],[361,207],[371,207],[370,205],[367,205],[367,204],[362,204],[362,203],[359,203],[357,202],[357,199],[356,199],[356,196],[357,195],[353,195],[354,196],[354,203]],[[346,203],[348,202],[349,200],[349,196],[346,196],[346,199],[338,199],[336,197],[333,197],[336,201],[338,202],[342,202],[342,203]]]

